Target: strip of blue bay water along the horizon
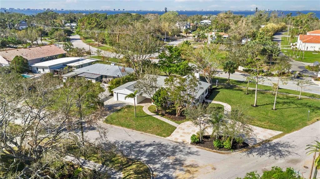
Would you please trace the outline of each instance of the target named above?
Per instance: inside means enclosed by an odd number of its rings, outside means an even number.
[[[14,11],[9,11],[6,10],[7,12],[18,12],[18,13],[23,13],[26,15],[35,15],[37,13],[40,12],[44,12],[44,10],[14,10]],[[164,11],[84,11],[84,10],[53,10],[54,12],[57,13],[69,13],[69,12],[74,12],[74,13],[84,13],[84,14],[89,14],[89,13],[107,13],[108,15],[111,14],[120,14],[120,13],[138,13],[138,14],[164,14]],[[1,12],[4,12],[4,10],[1,10]],[[184,14],[187,16],[191,16],[191,15],[217,15],[220,12],[224,12],[224,11],[177,11],[179,14]],[[255,11],[232,11],[234,14],[239,14],[239,15],[243,15],[243,16],[247,16],[247,15],[252,15],[255,13]],[[268,11],[269,13],[271,13],[271,11]],[[281,12],[284,12],[284,15],[289,14],[290,12],[292,13],[292,16],[296,16],[298,11],[277,11],[279,16]],[[316,14],[317,18],[320,18],[320,11],[299,11],[303,14],[307,14],[309,12],[314,12]]]

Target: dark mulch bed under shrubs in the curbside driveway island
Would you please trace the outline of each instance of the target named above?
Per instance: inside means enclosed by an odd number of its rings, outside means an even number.
[[[204,148],[208,148],[208,149],[211,149],[211,150],[223,151],[223,152],[231,152],[231,151],[235,151],[235,150],[240,150],[240,149],[243,149],[243,148],[249,146],[249,144],[247,144],[245,142],[243,142],[242,145],[241,145],[241,144],[238,144],[236,141],[233,141],[232,149],[216,148],[213,145],[213,139],[210,137],[210,135],[205,135],[203,137],[203,142],[202,143],[197,143],[197,144],[191,143],[191,145],[204,147]]]

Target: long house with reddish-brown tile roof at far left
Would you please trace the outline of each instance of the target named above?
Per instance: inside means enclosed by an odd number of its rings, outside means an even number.
[[[62,48],[55,45],[4,50],[0,51],[0,66],[9,65],[15,56],[22,56],[28,60],[29,65],[32,65],[57,59],[58,55],[66,53]]]

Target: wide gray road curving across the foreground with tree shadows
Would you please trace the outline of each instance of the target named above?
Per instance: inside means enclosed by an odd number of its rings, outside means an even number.
[[[320,121],[282,138],[265,143],[249,151],[234,154],[217,154],[180,144],[141,132],[103,124],[108,130],[108,139],[115,142],[124,153],[145,161],[156,178],[183,179],[234,179],[250,171],[261,173],[272,166],[293,167],[308,175],[312,156],[306,155],[306,145],[320,138]],[[98,137],[95,130],[85,134],[91,139]]]

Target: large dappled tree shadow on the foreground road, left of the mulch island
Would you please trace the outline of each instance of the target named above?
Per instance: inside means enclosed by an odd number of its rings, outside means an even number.
[[[163,143],[153,141],[125,141],[117,140],[115,144],[127,157],[145,162],[150,166],[153,173],[160,178],[174,178],[172,174],[176,171],[184,171],[185,160],[190,156],[196,158],[197,150],[179,143]],[[131,148],[131,152],[130,152]],[[131,154],[132,153],[132,154]],[[195,164],[197,167],[197,165]]]

